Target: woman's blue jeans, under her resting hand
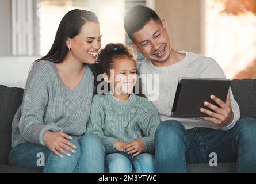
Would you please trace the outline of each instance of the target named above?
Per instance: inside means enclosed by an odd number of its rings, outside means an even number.
[[[63,158],[55,155],[47,147],[33,143],[24,143],[12,148],[9,154],[9,164],[12,166],[39,169],[47,173],[90,173],[104,172],[105,148],[98,136],[86,134],[79,140],[70,140],[77,148],[71,157]],[[68,152],[68,151],[67,151]],[[41,166],[41,155],[45,164]],[[37,155],[39,154],[39,155]],[[37,157],[39,156],[39,157]]]

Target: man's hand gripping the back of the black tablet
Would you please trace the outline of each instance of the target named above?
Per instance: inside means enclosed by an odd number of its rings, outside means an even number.
[[[216,124],[219,127],[230,125],[234,119],[234,113],[232,112],[230,102],[230,90],[228,90],[226,102],[221,101],[221,99],[215,97],[214,95],[211,95],[211,99],[215,101],[220,106],[220,108],[209,102],[204,102],[204,105],[212,109],[214,112],[212,112],[211,110],[201,108],[200,111],[209,116],[202,117],[201,119],[212,122],[213,124]]]

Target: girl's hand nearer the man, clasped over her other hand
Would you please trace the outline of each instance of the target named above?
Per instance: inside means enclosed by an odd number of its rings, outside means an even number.
[[[124,146],[124,152],[137,156],[145,150],[146,146],[142,140],[134,140],[131,143]]]

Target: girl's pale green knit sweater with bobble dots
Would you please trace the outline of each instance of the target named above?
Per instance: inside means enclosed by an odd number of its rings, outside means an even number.
[[[155,130],[160,123],[158,112],[147,98],[131,94],[128,101],[117,101],[112,94],[95,95],[86,133],[98,135],[106,153],[118,152],[114,143],[144,141],[144,152],[154,152]],[[144,137],[142,137],[142,133]]]

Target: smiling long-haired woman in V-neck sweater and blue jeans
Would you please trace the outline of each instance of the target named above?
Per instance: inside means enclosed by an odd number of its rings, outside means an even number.
[[[85,135],[94,83],[88,64],[96,62],[100,47],[94,13],[75,9],[62,18],[49,53],[29,72],[13,119],[9,164],[43,172],[104,172],[101,140]]]

